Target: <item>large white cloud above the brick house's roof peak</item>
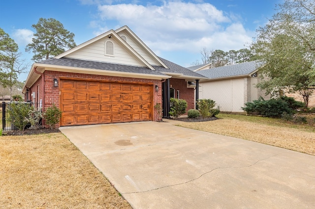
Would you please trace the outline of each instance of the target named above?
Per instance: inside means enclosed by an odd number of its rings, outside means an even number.
[[[210,3],[164,1],[162,5],[99,5],[96,34],[107,24],[127,25],[154,52],[199,53],[204,47],[223,51],[245,48],[252,41],[235,14],[226,14]],[[94,23],[95,24],[95,23]],[[106,29],[106,30],[105,30]]]

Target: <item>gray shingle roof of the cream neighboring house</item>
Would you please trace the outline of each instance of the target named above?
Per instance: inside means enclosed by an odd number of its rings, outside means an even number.
[[[250,76],[254,72],[256,72],[261,65],[262,62],[260,60],[255,60],[251,62],[226,65],[217,68],[210,68],[208,70],[197,71],[196,73],[203,75],[207,78],[229,78]]]

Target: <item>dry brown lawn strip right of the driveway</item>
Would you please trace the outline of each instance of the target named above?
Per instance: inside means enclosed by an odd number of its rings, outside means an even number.
[[[315,156],[315,127],[287,124],[280,119],[219,114],[220,120],[179,126],[242,138]],[[314,118],[313,118],[314,119]]]

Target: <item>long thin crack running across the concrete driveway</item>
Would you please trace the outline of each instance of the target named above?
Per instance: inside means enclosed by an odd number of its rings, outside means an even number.
[[[167,188],[167,187],[171,187],[171,186],[178,186],[178,185],[182,185],[182,184],[186,184],[186,183],[190,183],[190,182],[193,182],[193,181],[196,181],[198,179],[200,179],[201,177],[203,177],[204,175],[206,174],[209,174],[215,170],[218,170],[218,169],[227,169],[227,168],[248,168],[248,167],[251,167],[255,164],[257,164],[258,162],[260,161],[263,161],[263,160],[266,160],[266,159],[269,159],[271,157],[275,157],[275,156],[278,156],[280,154],[276,154],[276,155],[273,155],[273,156],[270,156],[270,157],[266,157],[266,158],[263,158],[263,159],[258,159],[257,161],[255,161],[254,163],[252,163],[251,165],[247,165],[247,166],[226,166],[226,167],[217,167],[217,168],[214,168],[210,171],[207,171],[203,174],[201,174],[199,177],[195,178],[195,179],[192,179],[192,180],[189,180],[187,182],[183,182],[183,183],[176,183],[176,184],[171,184],[171,185],[167,185],[167,186],[161,186],[161,187],[158,187],[158,188],[154,188],[154,189],[149,189],[149,190],[146,190],[146,191],[136,191],[136,192],[125,192],[125,193],[121,193],[121,194],[136,194],[136,193],[145,193],[145,192],[149,192],[149,191],[154,191],[154,190],[158,190],[158,189],[162,189],[162,188]]]

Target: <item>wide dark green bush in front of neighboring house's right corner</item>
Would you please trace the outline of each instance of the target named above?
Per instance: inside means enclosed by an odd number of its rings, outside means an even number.
[[[264,100],[259,98],[252,103],[245,104],[246,107],[242,107],[243,110],[248,113],[254,113],[264,115],[266,117],[280,118],[283,114],[292,114],[293,110],[289,108],[288,104],[282,99],[270,99]]]

